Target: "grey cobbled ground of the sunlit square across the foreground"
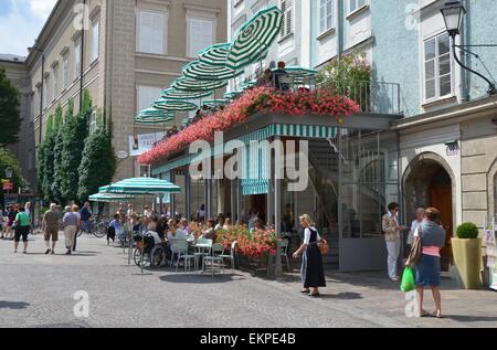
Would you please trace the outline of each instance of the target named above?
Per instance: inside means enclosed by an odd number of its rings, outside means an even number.
[[[283,283],[242,272],[212,278],[163,268],[141,275],[104,238],[80,238],[72,256],[59,255],[62,243],[57,255],[44,255],[38,236],[23,255],[13,254],[12,242],[0,241],[0,327],[433,327],[440,321],[406,318],[398,287],[384,286],[378,276],[331,275],[324,296],[314,299],[299,294],[292,275]],[[89,296],[87,318],[73,311],[80,290]],[[442,322],[497,326],[497,312],[488,316],[497,294],[451,293],[443,296],[452,316]]]

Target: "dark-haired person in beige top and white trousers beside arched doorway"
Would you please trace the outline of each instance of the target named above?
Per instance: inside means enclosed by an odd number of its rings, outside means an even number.
[[[391,280],[399,280],[396,264],[400,254],[400,231],[403,230],[403,226],[399,225],[399,204],[392,202],[388,209],[389,212],[381,220],[388,252],[387,265],[389,268],[389,278]]]

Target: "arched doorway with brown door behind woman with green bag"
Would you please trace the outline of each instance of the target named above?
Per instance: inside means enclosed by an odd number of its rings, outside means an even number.
[[[441,211],[441,222],[447,232],[441,252],[442,271],[452,263],[451,237],[454,233],[454,174],[445,160],[435,153],[417,156],[404,173],[404,215],[410,224],[416,208],[434,206]]]

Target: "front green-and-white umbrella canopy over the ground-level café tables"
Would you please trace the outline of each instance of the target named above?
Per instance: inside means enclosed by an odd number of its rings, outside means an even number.
[[[126,179],[99,189],[103,193],[117,194],[163,194],[179,193],[181,188],[166,180],[156,178],[133,178]]]

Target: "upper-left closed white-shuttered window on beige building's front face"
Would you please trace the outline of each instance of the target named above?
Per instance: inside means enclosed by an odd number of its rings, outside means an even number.
[[[138,51],[165,53],[165,15],[159,12],[140,11],[138,25]]]

